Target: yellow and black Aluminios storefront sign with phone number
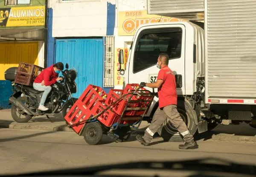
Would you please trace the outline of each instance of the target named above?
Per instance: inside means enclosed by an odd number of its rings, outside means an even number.
[[[0,27],[44,26],[45,7],[0,8]]]

